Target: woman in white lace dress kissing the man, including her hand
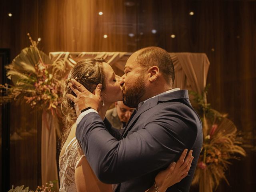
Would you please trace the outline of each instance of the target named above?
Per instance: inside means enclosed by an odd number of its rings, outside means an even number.
[[[61,138],[60,166],[60,192],[112,192],[112,185],[104,184],[95,176],[88,164],[84,152],[76,140],[76,110],[74,102],[66,97],[66,94],[74,94],[68,82],[75,78],[90,92],[95,91],[96,86],[102,84],[102,98],[104,106],[101,109],[104,115],[113,102],[122,100],[122,88],[117,76],[110,65],[103,58],[86,59],[78,62],[70,71],[64,87],[62,112],[64,114],[64,131]],[[122,131],[122,130],[121,130]],[[164,192],[169,186],[180,182],[188,174],[193,160],[192,151],[185,149],[177,163],[159,172],[155,177],[155,183],[146,192]],[[185,158],[186,157],[186,158]]]

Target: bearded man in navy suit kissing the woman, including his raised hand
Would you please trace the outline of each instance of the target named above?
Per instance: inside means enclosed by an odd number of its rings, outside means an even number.
[[[77,98],[76,138],[96,176],[117,184],[116,192],[144,192],[154,177],[170,162],[177,161],[185,148],[193,150],[188,176],[168,188],[188,192],[202,147],[202,123],[192,108],[187,90],[172,89],[174,66],[170,55],[159,47],[133,53],[121,77],[124,104],[136,108],[120,134],[101,120],[101,85],[95,95],[72,79]]]

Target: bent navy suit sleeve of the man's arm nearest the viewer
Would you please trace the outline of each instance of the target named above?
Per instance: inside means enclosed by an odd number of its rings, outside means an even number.
[[[175,116],[168,122],[163,119],[159,114],[143,129],[118,141],[100,116],[91,112],[78,123],[76,138],[96,176],[105,183],[120,183],[159,170],[178,160],[184,148],[191,148],[196,130]],[[184,133],[187,137],[180,138]]]

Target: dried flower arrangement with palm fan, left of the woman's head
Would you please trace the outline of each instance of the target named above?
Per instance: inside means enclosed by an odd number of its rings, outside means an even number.
[[[62,76],[66,72],[64,62],[52,62],[42,51],[38,50],[38,42],[28,34],[31,46],[24,48],[11,64],[6,66],[7,76],[14,85],[0,85],[5,96],[0,102],[25,101],[32,108],[50,110],[58,114],[60,106]]]

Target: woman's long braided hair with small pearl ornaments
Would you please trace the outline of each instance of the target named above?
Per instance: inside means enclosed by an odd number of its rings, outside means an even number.
[[[64,128],[61,135],[61,148],[68,138],[71,126],[76,122],[76,110],[74,108],[74,102],[67,98],[66,94],[74,94],[71,88],[68,87],[69,79],[76,78],[77,81],[82,84],[87,90],[93,92],[96,86],[101,83],[102,90],[105,88],[105,75],[103,70],[103,62],[106,62],[104,58],[85,59],[78,62],[70,71],[68,80],[63,86],[63,97],[61,110],[64,114]]]

